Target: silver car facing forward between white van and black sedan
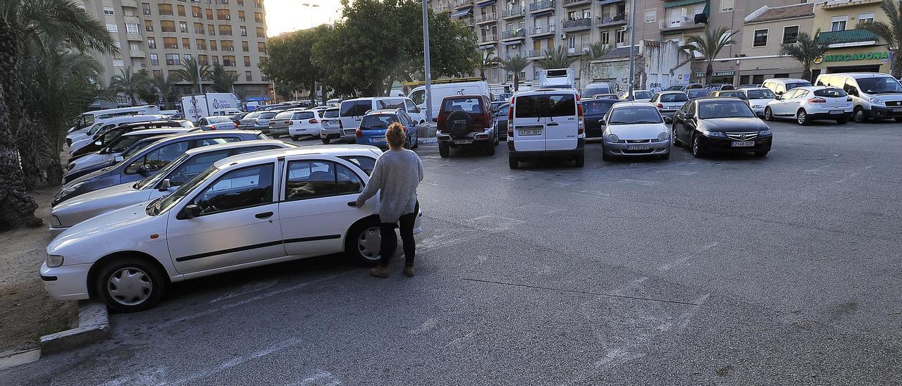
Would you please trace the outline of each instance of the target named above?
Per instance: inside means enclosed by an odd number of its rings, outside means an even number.
[[[621,102],[604,116],[602,159],[657,156],[670,158],[670,134],[655,106],[645,102]]]

